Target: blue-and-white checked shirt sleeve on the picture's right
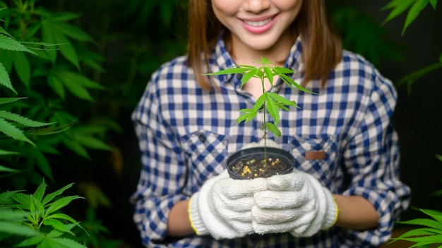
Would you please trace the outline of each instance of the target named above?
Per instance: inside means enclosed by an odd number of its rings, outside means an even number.
[[[362,104],[360,125],[350,135],[344,159],[350,185],[344,195],[359,195],[378,212],[373,230],[342,230],[349,247],[378,247],[388,241],[395,221],[410,204],[410,188],[399,180],[399,142],[391,118],[396,92],[389,80],[373,72],[373,87]],[[364,101],[364,99],[362,99]]]

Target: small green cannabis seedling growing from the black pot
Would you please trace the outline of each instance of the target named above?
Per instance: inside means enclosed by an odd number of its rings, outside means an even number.
[[[257,61],[256,63],[261,64],[260,67],[256,68],[255,66],[246,66],[240,65],[235,66],[233,68],[227,68],[225,70],[220,70],[215,73],[207,73],[204,75],[227,75],[227,74],[242,74],[243,77],[241,79],[241,88],[244,87],[246,82],[248,82],[252,77],[259,78],[261,80],[261,88],[263,90],[263,94],[256,100],[256,103],[253,105],[253,109],[240,109],[242,112],[241,116],[237,118],[237,122],[244,123],[253,120],[256,117],[258,112],[263,113],[263,139],[264,139],[264,147],[265,147],[265,139],[267,137],[268,131],[272,132],[276,137],[281,136],[281,130],[277,127],[277,124],[280,120],[280,111],[285,110],[289,111],[289,106],[297,106],[295,101],[290,101],[285,97],[277,94],[275,92],[270,92],[265,90],[265,80],[270,82],[273,89],[274,77],[279,77],[286,85],[290,88],[300,89],[303,92],[309,92],[312,94],[316,94],[314,92],[305,89],[297,82],[294,82],[291,77],[287,74],[292,74],[295,71],[289,68],[284,68],[280,66],[276,66],[275,63],[268,61],[267,58],[261,57],[261,61]],[[273,122],[266,119],[266,113],[269,113],[273,118]]]

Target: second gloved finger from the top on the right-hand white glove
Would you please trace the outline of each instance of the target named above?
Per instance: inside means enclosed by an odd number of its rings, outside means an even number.
[[[309,192],[271,191],[256,192],[253,195],[256,206],[261,209],[293,209],[309,202]]]

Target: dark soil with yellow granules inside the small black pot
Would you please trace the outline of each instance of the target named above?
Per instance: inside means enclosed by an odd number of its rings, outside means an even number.
[[[293,166],[279,158],[269,156],[266,162],[263,156],[249,156],[235,161],[229,169],[240,178],[253,179],[286,174],[290,167]]]

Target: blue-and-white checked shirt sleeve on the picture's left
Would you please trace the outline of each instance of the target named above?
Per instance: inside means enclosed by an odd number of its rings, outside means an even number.
[[[133,220],[146,246],[165,239],[170,209],[189,199],[181,194],[186,175],[184,157],[173,129],[163,118],[157,77],[154,74],[152,78],[132,114],[142,168],[131,202],[135,205]]]

